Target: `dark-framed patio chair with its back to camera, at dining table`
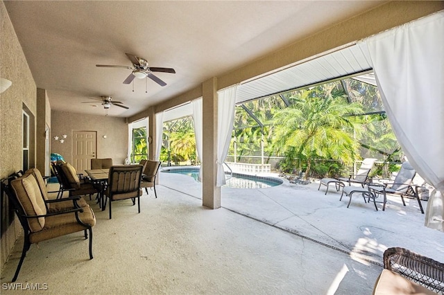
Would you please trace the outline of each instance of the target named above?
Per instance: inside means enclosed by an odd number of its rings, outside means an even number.
[[[122,199],[131,199],[135,205],[137,199],[137,207],[140,213],[140,196],[142,189],[140,182],[142,181],[142,165],[123,165],[112,166],[108,174],[108,187],[105,189],[105,204],[102,210],[106,207],[106,198],[110,199],[110,219],[111,219],[111,204],[114,201]]]

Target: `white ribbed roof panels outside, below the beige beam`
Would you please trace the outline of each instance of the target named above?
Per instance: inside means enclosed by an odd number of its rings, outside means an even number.
[[[350,76],[376,86],[371,71],[372,64],[366,48],[349,44],[241,83],[237,89],[236,102],[241,105],[250,100]],[[180,105],[164,111],[164,121],[191,116],[192,113],[190,104]]]

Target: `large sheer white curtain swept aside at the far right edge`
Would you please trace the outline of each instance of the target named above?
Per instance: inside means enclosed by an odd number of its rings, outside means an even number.
[[[425,225],[444,231],[444,10],[363,42],[395,135],[436,188]]]

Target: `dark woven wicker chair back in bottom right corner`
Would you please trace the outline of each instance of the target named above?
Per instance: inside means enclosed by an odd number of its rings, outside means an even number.
[[[384,269],[394,271],[437,294],[444,294],[444,263],[393,247],[384,251]]]

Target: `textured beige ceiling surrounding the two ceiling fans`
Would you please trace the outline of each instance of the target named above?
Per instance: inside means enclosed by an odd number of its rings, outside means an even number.
[[[100,101],[83,102],[112,96],[129,109],[111,107],[109,116],[128,118],[384,2],[3,3],[35,84],[46,89],[53,111],[105,116]],[[96,67],[131,66],[125,53],[143,57],[150,66],[173,68],[176,74],[156,73],[167,83],[164,87],[150,79],[123,84],[131,73],[128,69]],[[266,95],[262,84],[268,83],[265,79],[243,85],[241,99]],[[271,91],[284,87],[281,84]]]

